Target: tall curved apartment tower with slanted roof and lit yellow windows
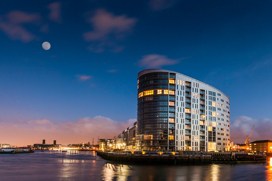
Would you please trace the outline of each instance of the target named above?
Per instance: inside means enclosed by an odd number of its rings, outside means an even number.
[[[228,151],[230,99],[220,90],[178,72],[138,73],[136,148]]]

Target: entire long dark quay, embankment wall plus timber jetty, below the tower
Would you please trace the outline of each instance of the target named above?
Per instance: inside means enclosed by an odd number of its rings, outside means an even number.
[[[261,162],[263,153],[244,152],[146,152],[146,151],[97,151],[97,155],[110,161],[123,163],[204,165],[211,163]]]

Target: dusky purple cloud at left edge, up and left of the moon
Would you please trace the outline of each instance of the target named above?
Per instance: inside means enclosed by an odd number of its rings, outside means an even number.
[[[23,11],[10,11],[0,19],[0,29],[12,40],[20,40],[24,43],[33,41],[37,37],[26,30],[24,24],[39,24],[39,14],[29,14]]]

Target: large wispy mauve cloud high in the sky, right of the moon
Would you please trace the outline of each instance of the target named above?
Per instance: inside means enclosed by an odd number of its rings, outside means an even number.
[[[83,39],[92,41],[93,52],[103,52],[106,49],[112,52],[120,52],[123,47],[117,46],[135,26],[137,19],[128,18],[127,15],[114,15],[105,9],[97,9],[93,16],[87,15],[86,22],[93,27],[92,31],[83,33]]]

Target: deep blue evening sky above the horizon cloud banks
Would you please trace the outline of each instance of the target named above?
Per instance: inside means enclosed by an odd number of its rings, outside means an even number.
[[[51,3],[2,2],[0,121],[136,118],[137,73],[145,68],[180,72],[218,88],[231,99],[231,121],[271,118],[271,1],[62,1],[56,19],[50,18]],[[20,14],[8,18],[14,11],[39,18],[18,22]],[[103,13],[116,21],[87,41],[83,34],[95,32],[88,18]],[[5,31],[18,26],[33,38]],[[137,63],[150,54],[178,63]]]

